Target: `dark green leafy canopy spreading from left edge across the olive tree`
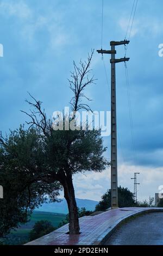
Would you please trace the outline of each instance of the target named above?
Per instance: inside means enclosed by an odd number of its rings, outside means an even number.
[[[102,154],[106,149],[100,135],[96,130],[49,131],[49,137],[44,138],[36,127],[24,130],[23,126],[11,131],[0,148],[0,184],[4,188],[0,236],[27,222],[46,195],[53,202],[57,200],[61,169],[71,166],[74,174],[105,168]]]

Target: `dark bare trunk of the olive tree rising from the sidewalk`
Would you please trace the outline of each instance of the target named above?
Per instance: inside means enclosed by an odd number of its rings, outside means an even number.
[[[78,208],[72,182],[72,175],[66,177],[62,185],[64,186],[64,197],[67,201],[68,211],[70,215],[70,235],[76,235],[79,234],[80,227],[78,219]]]

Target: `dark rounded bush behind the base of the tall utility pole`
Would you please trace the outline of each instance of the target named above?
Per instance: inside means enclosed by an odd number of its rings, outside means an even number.
[[[105,211],[111,206],[111,190],[106,191],[101,197],[102,200],[96,205],[96,211]],[[133,193],[128,188],[118,187],[118,205],[119,207],[135,206]]]

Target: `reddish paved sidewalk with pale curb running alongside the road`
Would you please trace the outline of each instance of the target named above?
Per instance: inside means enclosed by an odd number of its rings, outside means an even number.
[[[162,208],[119,208],[79,218],[79,235],[68,235],[68,224],[26,245],[102,245],[115,228],[130,216]]]

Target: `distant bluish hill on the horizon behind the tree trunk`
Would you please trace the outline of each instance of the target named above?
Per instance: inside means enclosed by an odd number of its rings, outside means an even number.
[[[97,201],[93,200],[87,200],[87,199],[79,199],[76,198],[77,206],[79,208],[85,207],[86,210],[94,211],[96,204],[98,204]],[[68,208],[65,198],[62,199],[60,203],[43,203],[42,206],[40,206],[37,211],[45,211],[45,212],[56,212],[59,214],[67,214]]]

